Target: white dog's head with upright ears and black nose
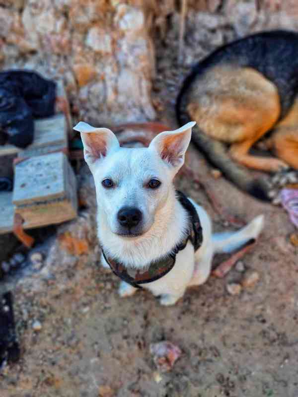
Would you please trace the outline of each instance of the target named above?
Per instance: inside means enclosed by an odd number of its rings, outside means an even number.
[[[114,133],[80,122],[84,158],[95,182],[97,205],[112,233],[123,238],[146,233],[167,199],[184,163],[195,122],[161,132],[146,148],[120,147]]]

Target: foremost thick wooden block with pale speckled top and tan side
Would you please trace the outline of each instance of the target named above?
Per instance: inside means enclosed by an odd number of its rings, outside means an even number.
[[[16,164],[12,202],[24,229],[75,218],[76,179],[66,155],[50,153]]]

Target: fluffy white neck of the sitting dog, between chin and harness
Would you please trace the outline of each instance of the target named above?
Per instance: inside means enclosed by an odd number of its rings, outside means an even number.
[[[112,233],[100,208],[97,225],[98,237],[106,255],[123,265],[143,267],[171,252],[183,239],[187,233],[188,214],[172,188],[165,205],[156,212],[153,225],[142,236],[125,238]]]

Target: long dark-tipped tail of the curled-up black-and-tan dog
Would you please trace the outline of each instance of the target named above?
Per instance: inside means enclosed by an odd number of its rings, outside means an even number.
[[[190,75],[178,95],[176,102],[176,117],[179,125],[186,124],[190,118],[186,112],[186,92],[191,84]],[[192,142],[203,152],[210,163],[220,169],[224,176],[240,190],[263,201],[270,201],[269,188],[265,181],[251,177],[244,167],[236,164],[227,154],[224,144],[213,139],[200,130],[198,124],[192,129]]]

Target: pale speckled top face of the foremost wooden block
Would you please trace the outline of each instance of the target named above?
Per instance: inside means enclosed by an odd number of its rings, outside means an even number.
[[[65,196],[66,163],[65,154],[57,152],[16,164],[12,202],[19,206]]]

